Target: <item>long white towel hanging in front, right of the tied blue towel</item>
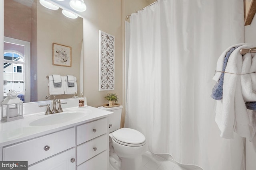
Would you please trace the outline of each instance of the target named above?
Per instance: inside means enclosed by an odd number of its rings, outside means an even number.
[[[215,121],[221,131],[220,136],[227,139],[233,138],[234,131],[242,137],[250,137],[249,117],[242,97],[239,75],[242,71],[240,49],[246,47],[247,45],[242,45],[230,55],[226,72],[234,74],[225,73],[223,98],[217,101]]]

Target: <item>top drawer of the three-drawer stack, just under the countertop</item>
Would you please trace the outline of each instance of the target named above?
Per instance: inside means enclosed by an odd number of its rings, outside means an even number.
[[[99,119],[76,127],[76,145],[107,133],[107,118]]]

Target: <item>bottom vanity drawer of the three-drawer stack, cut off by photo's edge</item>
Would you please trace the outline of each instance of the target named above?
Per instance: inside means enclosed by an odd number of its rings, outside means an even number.
[[[108,170],[108,152],[98,154],[77,167],[77,170]]]

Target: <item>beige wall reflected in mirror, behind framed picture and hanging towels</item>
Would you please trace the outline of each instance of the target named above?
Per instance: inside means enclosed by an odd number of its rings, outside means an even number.
[[[80,54],[83,38],[82,18],[65,17],[61,9],[48,10],[38,3],[37,8],[37,70],[38,101],[45,100],[49,94],[47,75],[74,75],[77,77],[78,94],[80,92]],[[72,50],[71,67],[52,64],[52,43],[66,45]],[[34,76],[32,76],[34,78]],[[71,98],[74,95],[58,95],[58,99]]]

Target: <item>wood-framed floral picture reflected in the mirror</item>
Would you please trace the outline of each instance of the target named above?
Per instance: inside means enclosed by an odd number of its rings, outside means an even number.
[[[71,67],[71,47],[52,43],[52,65]]]

